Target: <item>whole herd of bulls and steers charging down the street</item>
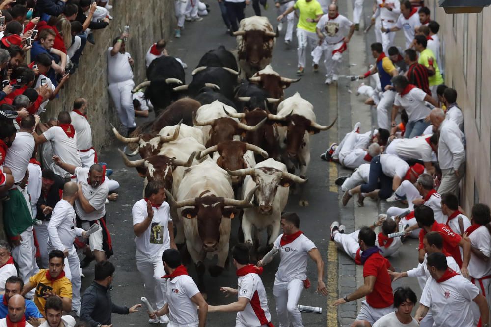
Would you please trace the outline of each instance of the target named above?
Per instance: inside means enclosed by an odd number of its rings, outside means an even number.
[[[237,60],[223,46],[201,58],[189,84],[175,58],[160,57],[134,90],[146,88],[156,119],[131,137],[113,127],[120,141],[133,144],[133,153],[120,151],[126,166],[145,182],[165,183],[175,242],[185,244],[202,291],[205,259],[218,255],[209,267],[213,277],[225,267],[232,218],[242,220],[239,240],[256,250],[258,232],[267,231],[263,252],[280,233],[290,185],[299,184],[299,204],[308,205],[301,185],[307,181],[309,137],[335,123],[318,124],[312,104],[298,92],[284,99],[284,89],[299,80],[281,77],[269,65],[274,33],[267,18],[244,19],[236,35],[246,79],[239,80]],[[136,154],[141,159],[128,159]]]

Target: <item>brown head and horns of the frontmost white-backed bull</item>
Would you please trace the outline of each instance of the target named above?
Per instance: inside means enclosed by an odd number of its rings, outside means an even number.
[[[244,200],[217,197],[204,191],[200,197],[176,202],[172,194],[165,190],[167,201],[173,208],[184,208],[181,216],[185,219],[197,219],[198,234],[203,242],[203,250],[216,251],[220,242],[220,224],[222,218],[232,219],[240,208],[250,207],[250,200],[255,192],[252,190]]]

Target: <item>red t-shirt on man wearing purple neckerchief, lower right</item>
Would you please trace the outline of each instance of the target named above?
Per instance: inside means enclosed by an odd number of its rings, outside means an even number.
[[[363,265],[363,278],[375,276],[373,292],[366,296],[367,303],[373,308],[382,309],[392,306],[394,295],[392,294],[392,280],[387,269],[390,267],[389,260],[380,253],[374,253]]]

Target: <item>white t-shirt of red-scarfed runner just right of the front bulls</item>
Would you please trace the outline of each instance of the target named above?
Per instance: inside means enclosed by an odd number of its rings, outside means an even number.
[[[279,282],[290,282],[294,279],[307,279],[307,257],[310,250],[316,248],[314,242],[301,234],[293,242],[280,245],[283,234],[274,241],[274,247],[279,250],[281,262],[279,263],[276,279]]]

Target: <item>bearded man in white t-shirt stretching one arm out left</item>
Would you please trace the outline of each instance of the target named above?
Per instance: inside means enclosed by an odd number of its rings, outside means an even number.
[[[90,261],[105,261],[112,255],[112,244],[106,228],[106,198],[109,189],[105,182],[105,172],[101,165],[93,164],[90,168],[76,167],[53,156],[55,164],[77,178],[79,196],[75,200],[75,213],[80,225],[88,230],[93,224],[99,224],[96,232],[89,236],[90,248],[85,248],[85,258],[81,267],[89,265]]]

